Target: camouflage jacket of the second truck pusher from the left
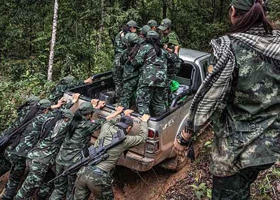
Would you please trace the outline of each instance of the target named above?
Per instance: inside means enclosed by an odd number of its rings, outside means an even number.
[[[15,148],[11,146],[7,147],[7,154],[14,154],[21,157],[26,157],[27,153],[36,145],[39,140],[41,127],[45,120],[52,117],[55,112],[50,112],[47,114],[39,114],[36,116],[32,122],[28,123],[20,135],[19,144]]]

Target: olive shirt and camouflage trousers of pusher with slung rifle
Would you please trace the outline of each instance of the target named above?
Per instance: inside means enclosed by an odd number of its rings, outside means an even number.
[[[101,138],[104,138],[103,146],[111,143],[111,136],[120,129],[120,127],[115,126],[116,123],[119,122],[119,119],[120,116],[114,117],[107,120],[102,125],[95,147],[99,145]],[[109,157],[97,165],[91,165],[89,163],[81,168],[77,174],[77,180],[75,183],[74,200],[86,200],[88,199],[90,192],[94,194],[96,200],[113,200],[113,178],[111,173],[114,170],[116,163],[125,150],[143,144],[147,138],[147,133],[147,122],[141,122],[139,134],[137,136],[127,136],[125,141],[109,149],[107,151]]]

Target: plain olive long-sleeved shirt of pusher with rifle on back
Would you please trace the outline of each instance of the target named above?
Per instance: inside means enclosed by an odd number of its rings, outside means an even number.
[[[116,123],[119,122],[119,119],[120,116],[114,117],[112,119],[109,119],[102,125],[100,135],[98,136],[97,142],[95,143],[95,147],[99,145],[99,141],[101,138],[104,138],[103,146],[106,146],[112,142],[112,135],[120,129],[119,127],[115,126]],[[147,122],[141,122],[138,132],[138,135],[127,136],[125,141],[109,149],[107,151],[107,153],[109,154],[108,158],[94,166],[88,164],[87,168],[89,170],[94,170],[97,167],[106,172],[111,172],[115,168],[116,163],[125,150],[143,144],[146,141],[148,134]]]

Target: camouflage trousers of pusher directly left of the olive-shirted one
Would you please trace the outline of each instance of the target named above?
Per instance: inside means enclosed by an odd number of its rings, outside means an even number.
[[[67,170],[67,166],[63,166],[56,163],[56,175],[60,175],[63,171]],[[64,199],[66,195],[66,200],[71,200],[73,196],[73,188],[75,185],[75,180],[77,178],[76,173],[67,176],[60,177],[54,181],[54,190],[50,196],[50,200]]]

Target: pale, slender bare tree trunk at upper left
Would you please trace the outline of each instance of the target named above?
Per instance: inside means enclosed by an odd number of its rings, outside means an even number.
[[[52,79],[52,65],[53,65],[54,46],[55,46],[55,37],[56,37],[57,13],[58,13],[58,0],[54,0],[52,35],[51,35],[50,57],[49,57],[49,68],[48,68],[48,81],[51,81]]]

